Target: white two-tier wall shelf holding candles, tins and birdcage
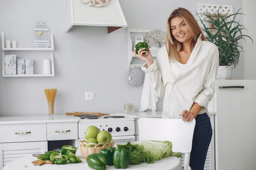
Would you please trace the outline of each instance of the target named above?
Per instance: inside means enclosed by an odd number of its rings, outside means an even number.
[[[54,56],[53,56],[53,51],[54,51],[54,41],[53,41],[53,34],[51,33],[51,47],[50,48],[6,48],[4,46],[4,33],[2,33],[2,77],[54,77]],[[7,51],[26,51],[26,52],[31,52],[31,51],[49,51],[50,55],[50,60],[51,60],[51,74],[16,74],[16,75],[6,75],[5,74],[5,53]],[[42,71],[43,72],[43,71]]]

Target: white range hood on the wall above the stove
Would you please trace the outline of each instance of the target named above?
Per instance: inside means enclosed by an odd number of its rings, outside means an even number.
[[[65,31],[74,25],[107,26],[108,33],[127,27],[124,13],[118,0],[110,0],[104,7],[94,7],[82,0],[67,0]]]

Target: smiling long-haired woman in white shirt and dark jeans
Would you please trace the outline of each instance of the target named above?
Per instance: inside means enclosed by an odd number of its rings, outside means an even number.
[[[207,42],[194,16],[184,8],[175,9],[168,18],[166,42],[154,61],[150,50],[135,55],[150,77],[159,97],[164,95],[162,118],[195,118],[190,166],[203,170],[212,129],[207,106],[215,92],[219,52]]]

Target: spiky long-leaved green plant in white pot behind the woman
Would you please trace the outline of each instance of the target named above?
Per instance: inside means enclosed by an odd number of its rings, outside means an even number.
[[[240,40],[245,38],[252,40],[248,35],[243,34],[243,30],[246,30],[245,26],[235,21],[237,15],[245,15],[239,13],[240,9],[233,14],[222,14],[220,8],[214,13],[197,13],[207,40],[216,44],[219,49],[217,78],[231,77],[231,71],[238,65],[240,52],[243,50]],[[221,75],[222,72],[227,74],[227,77]]]

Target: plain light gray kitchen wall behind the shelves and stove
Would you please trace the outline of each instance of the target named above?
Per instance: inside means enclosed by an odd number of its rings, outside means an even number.
[[[166,29],[173,9],[184,7],[195,14],[198,3],[212,4],[211,0],[119,2],[128,26],[136,29]],[[233,5],[234,11],[242,7],[242,0],[214,3]],[[6,39],[16,40],[18,47],[31,47],[33,28],[43,20],[54,34],[55,45],[55,77],[0,76],[0,116],[47,115],[45,88],[58,88],[56,115],[74,111],[122,112],[126,103],[135,104],[138,111],[142,86],[128,84],[126,28],[108,34],[106,27],[73,26],[65,33],[65,7],[65,0],[0,1],[0,32]],[[237,66],[233,77],[243,79],[243,64]],[[95,93],[94,101],[85,101],[85,91]],[[162,110],[162,98],[157,110]]]

